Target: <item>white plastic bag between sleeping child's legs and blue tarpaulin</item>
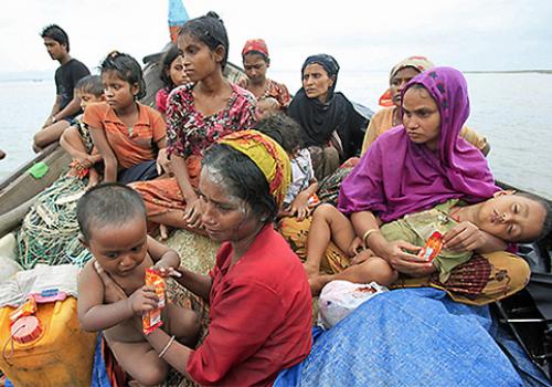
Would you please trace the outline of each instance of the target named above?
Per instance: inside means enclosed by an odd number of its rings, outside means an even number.
[[[329,330],[363,302],[388,291],[388,287],[375,282],[362,284],[340,280],[331,281],[323,286],[318,299],[318,325]]]

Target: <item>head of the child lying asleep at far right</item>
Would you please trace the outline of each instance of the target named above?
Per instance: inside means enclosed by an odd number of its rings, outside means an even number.
[[[477,212],[477,226],[508,242],[534,242],[552,229],[550,203],[534,195],[500,191],[484,201]]]

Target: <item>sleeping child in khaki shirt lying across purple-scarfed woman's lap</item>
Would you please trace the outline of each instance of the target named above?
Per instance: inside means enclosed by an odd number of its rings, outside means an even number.
[[[470,206],[461,206],[457,199],[448,200],[431,210],[385,223],[374,232],[381,232],[390,242],[403,241],[401,248],[413,253],[421,251],[434,231],[440,232],[444,241],[452,241],[453,238],[461,238],[459,234],[469,223],[505,242],[531,242],[544,238],[552,228],[550,205],[532,195],[513,194],[500,191],[491,199]],[[367,232],[364,239],[369,239],[370,234],[371,231]],[[330,240],[351,259],[350,265],[338,274],[320,274],[321,260]],[[396,281],[399,273],[388,261],[373,257],[370,250],[358,252],[363,244],[367,241],[355,236],[350,220],[337,208],[330,205],[318,207],[309,229],[305,262],[311,292],[318,294],[332,280],[355,283],[375,281],[381,285]],[[435,265],[439,281],[445,282],[450,271],[471,255],[471,251],[443,249],[433,262],[425,264]]]

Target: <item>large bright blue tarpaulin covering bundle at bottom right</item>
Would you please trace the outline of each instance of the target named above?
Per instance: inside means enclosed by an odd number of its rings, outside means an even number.
[[[522,386],[491,326],[488,307],[436,289],[383,293],[323,332],[275,387]]]

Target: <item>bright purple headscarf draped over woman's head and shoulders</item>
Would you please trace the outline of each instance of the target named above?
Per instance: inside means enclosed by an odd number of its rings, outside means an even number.
[[[423,85],[439,108],[437,149],[413,143],[403,125],[382,134],[341,185],[341,212],[374,211],[388,222],[453,198],[482,201],[498,190],[484,155],[458,137],[469,115],[461,73],[429,70],[408,82],[403,97],[414,84]]]

